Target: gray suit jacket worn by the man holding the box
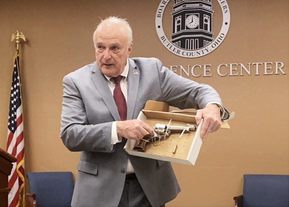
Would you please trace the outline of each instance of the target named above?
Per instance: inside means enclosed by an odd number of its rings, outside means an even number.
[[[66,75],[63,86],[60,137],[69,150],[81,151],[71,205],[117,206],[128,157],[152,206],[174,199],[180,187],[169,162],[126,154],[125,139],[111,150],[112,123],[120,117],[97,63]],[[127,119],[136,119],[147,100],[167,102],[181,109],[200,109],[209,101],[221,102],[212,87],[178,76],[156,58],[131,58]]]

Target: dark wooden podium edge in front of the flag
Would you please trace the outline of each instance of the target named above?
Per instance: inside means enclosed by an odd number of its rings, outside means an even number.
[[[0,148],[0,206],[8,206],[8,175],[11,174],[12,163],[16,158]]]

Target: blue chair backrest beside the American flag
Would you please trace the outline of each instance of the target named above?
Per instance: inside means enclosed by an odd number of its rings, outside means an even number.
[[[71,172],[27,173],[30,193],[37,207],[70,207],[74,189]]]

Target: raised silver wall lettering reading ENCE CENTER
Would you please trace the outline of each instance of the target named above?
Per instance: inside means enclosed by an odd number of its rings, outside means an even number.
[[[211,77],[213,71],[219,76],[244,76],[244,75],[286,75],[283,62],[265,63],[222,63],[213,68],[212,64],[205,65],[170,65],[169,69],[183,77]]]

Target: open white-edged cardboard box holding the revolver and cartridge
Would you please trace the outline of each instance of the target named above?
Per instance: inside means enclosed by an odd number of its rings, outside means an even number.
[[[145,152],[134,151],[133,148],[136,141],[128,139],[124,150],[128,154],[135,156],[194,165],[202,146],[200,129],[203,120],[198,126],[194,112],[186,111],[186,113],[181,113],[181,111],[168,112],[168,110],[169,105],[167,103],[148,101],[145,109],[139,113],[137,119],[144,121],[150,125],[151,128],[153,128],[155,124],[168,124],[170,119],[172,119],[171,125],[187,126],[187,124],[192,124],[196,126],[196,131],[184,133],[181,138],[179,138],[180,133],[171,133],[170,136],[161,140],[160,143],[146,144]],[[222,121],[221,128],[229,129],[230,127],[226,121]],[[176,145],[176,152],[172,153]]]

